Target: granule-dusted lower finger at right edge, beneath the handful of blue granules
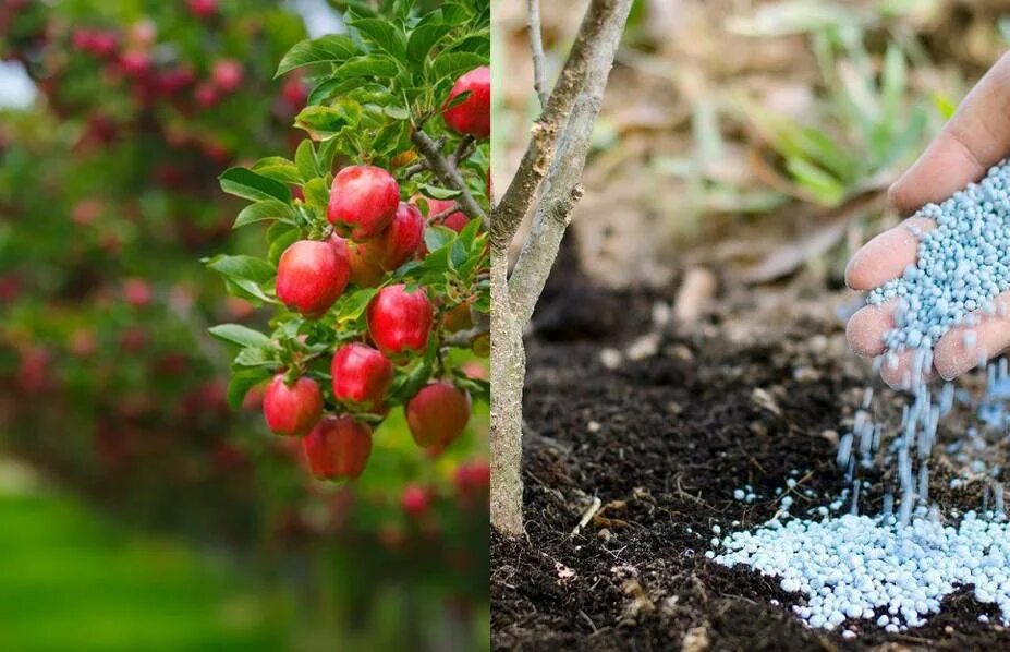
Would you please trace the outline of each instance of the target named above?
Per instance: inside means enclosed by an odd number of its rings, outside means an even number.
[[[998,294],[993,303],[995,315],[976,311],[976,326],[956,326],[936,343],[933,363],[945,379],[953,379],[1010,348],[1010,292]]]

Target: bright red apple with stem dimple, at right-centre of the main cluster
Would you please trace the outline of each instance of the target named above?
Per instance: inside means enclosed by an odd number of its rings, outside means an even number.
[[[391,358],[428,347],[435,309],[423,288],[407,292],[403,283],[387,286],[372,299],[366,316],[372,339]]]

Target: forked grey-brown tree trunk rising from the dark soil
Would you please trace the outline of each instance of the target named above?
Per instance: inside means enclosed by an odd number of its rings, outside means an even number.
[[[510,536],[523,533],[523,327],[582,196],[579,181],[631,3],[591,1],[520,169],[491,212],[491,524]],[[534,197],[533,225],[510,276],[509,244]]]

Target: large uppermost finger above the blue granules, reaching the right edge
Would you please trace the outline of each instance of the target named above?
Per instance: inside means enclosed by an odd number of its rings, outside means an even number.
[[[914,213],[982,178],[1010,152],[1010,58],[1005,55],[961,101],[944,131],[890,188],[891,204]]]

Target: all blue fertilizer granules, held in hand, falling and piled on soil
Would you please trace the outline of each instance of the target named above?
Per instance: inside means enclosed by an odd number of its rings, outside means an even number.
[[[783,590],[805,595],[793,612],[811,627],[833,629],[863,619],[887,631],[904,631],[938,612],[945,595],[968,585],[979,602],[996,604],[1003,624],[1010,625],[1010,522],[1003,515],[1002,486],[995,482],[999,468],[975,461],[975,473],[987,471],[994,479],[994,499],[979,514],[968,511],[957,520],[959,514],[952,512],[944,522],[928,493],[937,426],[956,403],[972,407],[979,427],[1005,433],[1010,425],[1006,359],[988,364],[981,402],[964,389],[956,391],[951,383],[930,390],[922,378],[933,366],[933,347],[947,331],[966,326],[959,337],[971,350],[979,312],[1003,313],[994,299],[1010,289],[1010,162],[994,167],[941,204],[925,206],[917,217],[932,219],[936,228],[913,231],[920,240],[916,264],[867,297],[874,305],[897,301],[895,327],[885,335],[888,352],[874,371],[880,364],[897,369],[899,355],[913,351],[912,369],[903,378],[911,401],[896,430],[874,421],[873,390],[867,388],[851,432],[838,447],[838,464],[851,482],[840,499],[851,498],[850,514],[833,516],[836,500],[831,511],[820,507],[810,510],[811,518],[789,519],[792,500],[787,505],[783,499],[772,520],[753,532],[714,539],[716,550],[706,554],[726,566],[744,564],[781,578]],[[986,351],[977,353],[979,361],[987,359]],[[966,459],[972,447],[985,448],[975,428],[947,451]],[[861,516],[860,488],[868,483],[859,472],[881,461],[897,476],[898,497],[888,492],[879,515]],[[985,616],[979,620],[986,621]]]

